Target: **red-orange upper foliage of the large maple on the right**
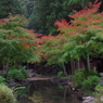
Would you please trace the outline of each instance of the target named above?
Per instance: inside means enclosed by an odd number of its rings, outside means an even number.
[[[101,20],[103,13],[98,13],[101,3],[102,2],[98,2],[98,0],[95,0],[94,3],[89,2],[88,7],[85,7],[80,11],[74,11],[73,15],[68,15],[73,18],[69,23],[62,20],[61,22],[56,21],[54,25],[59,27],[57,30],[60,30],[61,34],[65,34],[69,37],[79,35],[78,33],[83,34],[88,29],[99,29],[102,27],[99,24],[103,22]]]

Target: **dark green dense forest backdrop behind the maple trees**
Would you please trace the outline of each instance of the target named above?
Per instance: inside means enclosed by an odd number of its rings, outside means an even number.
[[[67,15],[73,14],[73,10],[82,9],[89,1],[95,0],[3,0],[0,1],[0,18],[8,17],[9,13],[22,14],[28,20],[27,28],[43,35],[56,35],[54,22],[61,18],[69,22]],[[103,10],[102,5],[100,10]]]

